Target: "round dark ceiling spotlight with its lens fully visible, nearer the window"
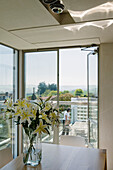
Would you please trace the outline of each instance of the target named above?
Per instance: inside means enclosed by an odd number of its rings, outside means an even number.
[[[51,8],[52,12],[54,12],[56,14],[60,14],[64,11],[64,5],[61,4],[59,0],[53,4],[50,4],[50,8]]]

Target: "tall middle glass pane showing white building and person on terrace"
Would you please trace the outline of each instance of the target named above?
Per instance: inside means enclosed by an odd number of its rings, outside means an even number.
[[[87,54],[80,48],[60,50],[60,135],[82,136],[88,141]],[[71,111],[67,114],[67,109]],[[66,125],[66,116],[69,123]]]

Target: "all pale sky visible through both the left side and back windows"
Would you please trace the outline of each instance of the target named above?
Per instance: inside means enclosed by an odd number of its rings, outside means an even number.
[[[87,54],[80,48],[60,49],[60,86],[87,85]],[[57,84],[57,51],[26,53],[26,85]],[[90,58],[90,84],[97,84],[97,57]],[[0,45],[0,85],[13,84],[13,50]]]

